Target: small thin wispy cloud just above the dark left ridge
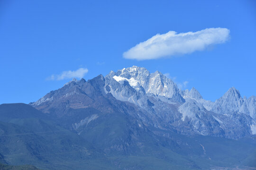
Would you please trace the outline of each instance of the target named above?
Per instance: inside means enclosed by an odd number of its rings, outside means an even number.
[[[79,68],[75,71],[63,71],[59,75],[52,75],[46,78],[46,80],[63,80],[63,79],[69,79],[69,78],[82,78],[86,73],[88,72],[87,68]]]

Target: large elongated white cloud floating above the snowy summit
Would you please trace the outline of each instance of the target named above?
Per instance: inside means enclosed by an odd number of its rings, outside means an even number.
[[[123,57],[145,60],[202,51],[209,45],[226,42],[229,32],[227,28],[206,28],[197,32],[156,34],[124,52]]]

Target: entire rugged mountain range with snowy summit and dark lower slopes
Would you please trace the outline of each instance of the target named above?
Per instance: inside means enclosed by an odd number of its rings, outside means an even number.
[[[254,169],[255,135],[256,96],[207,101],[137,66],[0,105],[0,162],[39,169]]]

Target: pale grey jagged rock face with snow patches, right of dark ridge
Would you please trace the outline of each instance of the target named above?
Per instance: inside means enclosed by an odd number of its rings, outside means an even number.
[[[114,97],[122,101],[132,102],[156,115],[161,120],[161,125],[157,125],[158,127],[174,127],[183,134],[198,133],[229,138],[239,138],[253,133],[250,128],[255,124],[253,119],[238,113],[244,99],[241,98],[240,93],[234,87],[230,88],[216,102],[211,102],[204,100],[194,87],[190,91],[178,89],[173,81],[158,71],[150,74],[145,68],[133,66],[132,68],[123,68],[117,73],[111,71],[106,77],[110,80],[107,84],[113,84],[112,86],[116,87],[110,91]],[[119,85],[116,84],[117,82],[119,82]],[[125,87],[122,85],[125,85]],[[180,96],[183,96],[186,102],[181,100]],[[146,101],[150,101],[150,104]],[[255,109],[253,105],[255,102],[252,99],[251,101],[247,104],[244,103],[241,113],[247,112],[247,115],[255,113],[253,110]],[[179,106],[179,102],[185,103]],[[250,111],[247,109],[248,107]],[[166,110],[175,111],[166,118],[165,115],[168,115]],[[179,119],[171,118],[174,115]],[[169,120],[168,123],[165,121],[166,119]],[[238,119],[241,121],[238,121]],[[188,126],[186,123],[192,126]],[[177,124],[179,126],[176,126]],[[231,128],[230,131],[227,126],[239,126],[239,128]],[[190,127],[190,129],[186,127]]]

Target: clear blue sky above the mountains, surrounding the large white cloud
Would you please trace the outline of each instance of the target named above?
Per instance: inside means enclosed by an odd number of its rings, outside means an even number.
[[[227,41],[201,51],[123,58],[156,34],[219,27],[230,31]],[[183,89],[194,86],[211,101],[232,86],[256,95],[256,1],[0,1],[0,103],[34,102],[79,68],[88,80],[133,65],[159,70]]]

